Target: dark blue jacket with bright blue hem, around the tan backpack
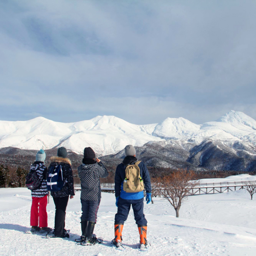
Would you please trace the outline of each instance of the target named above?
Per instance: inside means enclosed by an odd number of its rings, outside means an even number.
[[[125,179],[125,168],[127,165],[137,161],[137,158],[134,156],[127,156],[124,158],[123,163],[120,163],[115,171],[115,197],[121,197],[122,199],[127,200],[137,200],[144,197],[143,191],[136,193],[127,193],[123,190],[123,183]],[[141,178],[143,179],[146,193],[151,193],[151,183],[149,171],[145,163],[139,163]]]

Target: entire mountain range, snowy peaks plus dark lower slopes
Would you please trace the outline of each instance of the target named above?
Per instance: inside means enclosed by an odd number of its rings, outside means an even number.
[[[7,163],[12,153],[6,152],[19,152],[33,159],[35,150],[43,148],[54,155],[57,147],[65,146],[76,165],[84,147],[90,146],[97,157],[112,166],[122,161],[124,147],[132,144],[138,159],[150,167],[253,172],[256,171],[255,127],[254,119],[233,110],[204,124],[180,117],[167,118],[159,124],[137,125],[106,115],[74,123],[59,123],[44,117],[0,121],[0,157]]]

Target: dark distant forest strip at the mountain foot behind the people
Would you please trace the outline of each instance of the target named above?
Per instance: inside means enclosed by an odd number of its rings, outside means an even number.
[[[0,150],[0,187],[24,187],[25,177],[29,172],[30,165],[35,161],[35,154],[37,150],[20,150],[17,148],[5,148]],[[57,154],[57,149],[45,150],[46,167],[50,164],[50,157]],[[69,152],[68,158],[71,159],[74,183],[79,184],[80,179],[78,177],[77,168],[82,163],[83,155]],[[114,160],[114,159],[113,159]],[[114,163],[107,160],[102,162],[105,163],[106,168],[110,172],[106,179],[101,179],[102,183],[114,183],[115,169],[118,163],[121,163],[122,159],[115,159]],[[164,177],[175,169],[172,168],[156,168],[148,167],[151,178]],[[256,175],[256,172],[238,172],[238,171],[199,171],[195,172],[195,179],[205,178],[225,178],[231,175],[238,175],[242,173],[249,173],[250,175]]]

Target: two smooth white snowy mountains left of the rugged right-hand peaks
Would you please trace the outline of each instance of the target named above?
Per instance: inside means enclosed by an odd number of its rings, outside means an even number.
[[[154,126],[154,125],[153,125]],[[152,125],[135,125],[115,116],[97,116],[76,123],[58,123],[43,117],[28,121],[0,121],[0,148],[17,147],[36,150],[65,146],[83,153],[91,146],[98,155],[122,150],[127,144],[142,146],[148,141],[161,141],[148,130]]]

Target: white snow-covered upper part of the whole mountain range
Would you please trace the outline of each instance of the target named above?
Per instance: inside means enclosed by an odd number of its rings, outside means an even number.
[[[75,123],[54,122],[44,117],[28,121],[0,121],[0,148],[27,150],[65,146],[78,154],[91,146],[97,155],[115,154],[132,144],[165,142],[186,150],[210,139],[230,148],[253,149],[256,121],[231,110],[214,122],[194,124],[184,118],[167,118],[159,124],[130,124],[115,116],[97,116]]]

